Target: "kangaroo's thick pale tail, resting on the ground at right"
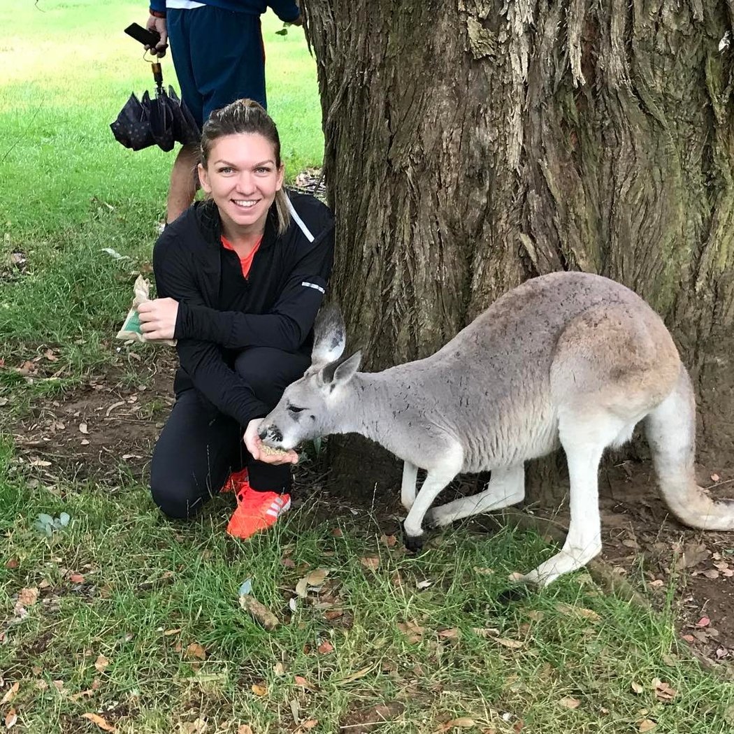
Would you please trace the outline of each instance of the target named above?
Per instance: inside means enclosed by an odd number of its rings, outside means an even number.
[[[683,365],[672,393],[645,418],[660,487],[682,523],[704,530],[734,530],[734,501],[713,501],[696,483],[696,402]]]

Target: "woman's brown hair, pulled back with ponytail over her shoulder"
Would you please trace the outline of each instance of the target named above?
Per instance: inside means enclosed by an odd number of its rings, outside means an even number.
[[[280,170],[280,137],[277,127],[264,107],[252,99],[238,99],[226,107],[215,109],[204,123],[201,134],[201,164],[207,167],[209,154],[214,143],[225,135],[257,133],[272,143],[275,150],[275,165]],[[288,195],[281,187],[275,192],[278,233],[283,234],[291,225],[291,212],[288,211]]]

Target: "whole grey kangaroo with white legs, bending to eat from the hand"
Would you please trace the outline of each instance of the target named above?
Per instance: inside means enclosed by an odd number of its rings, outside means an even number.
[[[694,477],[691,381],[662,319],[625,286],[581,272],[528,280],[438,352],[382,372],[342,359],[335,308],[316,322],[312,364],[264,418],[270,446],[360,433],[403,460],[408,548],[421,526],[444,526],[523,500],[524,462],[563,446],[570,526],[559,553],[520,581],[547,585],[601,551],[597,473],[607,446],[644,419],[662,494],[686,525],[734,530],[734,501],[713,501]],[[418,468],[426,479],[418,495]],[[491,470],[483,492],[429,509],[460,472]]]

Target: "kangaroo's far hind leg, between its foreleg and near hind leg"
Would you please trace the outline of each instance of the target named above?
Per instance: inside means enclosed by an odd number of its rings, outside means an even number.
[[[525,498],[525,465],[520,462],[512,466],[492,470],[487,489],[470,497],[462,497],[439,505],[426,512],[426,524],[435,528],[453,523],[462,517],[492,512],[522,502]]]

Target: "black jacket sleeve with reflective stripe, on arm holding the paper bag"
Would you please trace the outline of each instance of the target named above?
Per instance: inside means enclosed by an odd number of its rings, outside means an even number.
[[[334,258],[334,228],[302,245],[286,284],[269,313],[218,311],[193,302],[179,304],[176,338],[212,341],[227,349],[272,346],[295,352],[305,342],[324,299]]]

